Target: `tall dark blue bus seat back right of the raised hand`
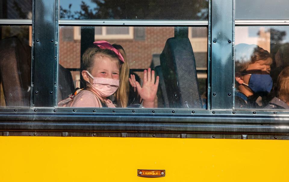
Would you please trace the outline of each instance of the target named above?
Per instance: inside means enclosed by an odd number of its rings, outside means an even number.
[[[203,108],[194,52],[188,38],[169,38],[160,54],[170,108]]]

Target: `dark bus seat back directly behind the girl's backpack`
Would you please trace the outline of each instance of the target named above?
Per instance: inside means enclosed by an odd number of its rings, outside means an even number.
[[[73,79],[68,69],[59,64],[58,102],[66,99],[74,91]]]

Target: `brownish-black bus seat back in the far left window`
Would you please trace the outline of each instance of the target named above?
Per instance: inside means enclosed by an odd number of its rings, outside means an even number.
[[[0,40],[0,76],[7,107],[30,107],[31,47],[16,37]]]

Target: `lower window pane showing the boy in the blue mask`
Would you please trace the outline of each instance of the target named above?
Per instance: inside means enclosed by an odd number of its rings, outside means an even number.
[[[236,26],[235,108],[289,109],[289,27]]]

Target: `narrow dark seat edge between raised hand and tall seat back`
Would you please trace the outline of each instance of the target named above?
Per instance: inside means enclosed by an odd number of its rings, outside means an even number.
[[[154,67],[154,71],[156,72],[156,76],[159,76],[159,86],[157,89],[157,106],[158,108],[168,108],[169,107],[169,100],[166,94],[166,85],[163,79],[163,73],[161,66]]]

